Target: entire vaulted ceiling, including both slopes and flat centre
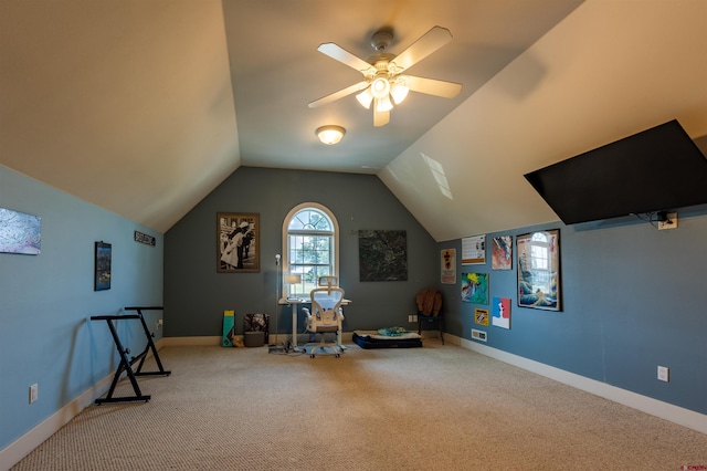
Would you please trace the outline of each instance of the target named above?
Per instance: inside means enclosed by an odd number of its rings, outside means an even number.
[[[704,0],[0,0],[0,165],[159,232],[240,166],[377,174],[436,240],[557,220],[523,175],[677,118],[707,135]],[[373,127],[317,52],[452,42]],[[341,125],[338,146],[314,130]],[[2,196],[0,182],[0,203]],[[245,208],[246,209],[246,208]]]

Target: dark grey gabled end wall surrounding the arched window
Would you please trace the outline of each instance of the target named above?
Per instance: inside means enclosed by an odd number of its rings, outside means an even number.
[[[278,332],[292,333],[291,307],[276,303],[275,254],[285,216],[307,201],[329,208],[339,223],[339,282],[352,300],[345,331],[413,327],[415,293],[437,281],[435,243],[378,177],[241,167],[165,234],[165,335],[220,336],[225,310],[235,311],[236,334],[246,313],[270,314],[273,333],[277,313]],[[218,212],[260,213],[260,273],[217,272]],[[361,229],[407,231],[408,281],[359,281]]]

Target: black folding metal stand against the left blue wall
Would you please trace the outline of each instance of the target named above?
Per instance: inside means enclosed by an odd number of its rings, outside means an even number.
[[[147,402],[150,400],[149,395],[144,395],[140,391],[140,387],[137,384],[136,376],[169,376],[172,371],[166,371],[162,368],[162,363],[159,360],[159,355],[157,354],[157,347],[155,347],[155,342],[152,342],[152,337],[155,334],[151,334],[147,328],[147,324],[145,323],[145,317],[143,316],[143,311],[161,311],[163,307],[125,307],[124,311],[137,311],[137,314],[125,314],[125,315],[96,315],[92,316],[92,321],[106,321],[108,323],[108,328],[110,328],[110,334],[113,334],[113,339],[115,341],[115,347],[118,349],[118,355],[120,355],[120,364],[113,376],[113,383],[110,384],[110,389],[105,398],[96,399],[96,404],[105,404],[105,402]],[[118,332],[115,328],[115,324],[113,321],[120,320],[130,320],[130,318],[139,318],[143,323],[143,328],[145,329],[145,336],[147,337],[147,346],[145,350],[128,359],[128,354],[130,353],[129,348],[124,348],[120,343],[120,338],[118,337]],[[152,350],[152,355],[155,356],[155,360],[157,362],[158,371],[143,371],[143,365],[145,364],[145,359],[147,354]],[[137,366],[136,370],[133,370],[133,365],[137,362],[140,362]],[[122,396],[122,397],[113,397],[113,393],[115,391],[115,387],[120,379],[120,375],[125,371],[130,379],[130,384],[133,385],[133,390],[135,391],[135,396]]]

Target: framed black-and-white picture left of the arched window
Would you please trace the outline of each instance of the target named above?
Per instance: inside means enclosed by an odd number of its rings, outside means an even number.
[[[261,271],[260,214],[217,213],[217,270],[220,273]]]

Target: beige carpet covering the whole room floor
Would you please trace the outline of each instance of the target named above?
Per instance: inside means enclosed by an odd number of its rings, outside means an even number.
[[[707,435],[456,346],[341,358],[169,347],[13,470],[679,470]],[[131,394],[128,381],[120,386]],[[117,394],[116,394],[117,395]]]

